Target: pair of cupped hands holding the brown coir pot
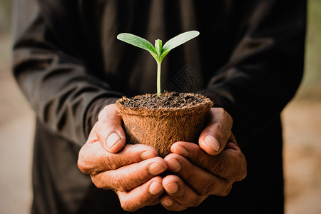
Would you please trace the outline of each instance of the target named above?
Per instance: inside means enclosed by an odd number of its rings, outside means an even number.
[[[98,188],[114,190],[124,210],[161,203],[167,210],[198,206],[209,195],[225,196],[246,176],[245,156],[236,143],[233,120],[211,108],[198,144],[176,142],[165,158],[151,146],[126,144],[114,104],[99,113],[78,157],[78,168]],[[166,170],[170,171],[164,178]]]

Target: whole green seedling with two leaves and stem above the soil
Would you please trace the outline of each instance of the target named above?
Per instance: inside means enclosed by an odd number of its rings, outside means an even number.
[[[133,46],[137,46],[138,48],[144,49],[151,53],[151,55],[156,59],[157,62],[157,95],[161,96],[161,64],[164,57],[168,54],[168,52],[175,47],[184,44],[186,41],[195,38],[200,33],[198,31],[187,31],[183,34],[179,34],[178,36],[173,37],[168,40],[164,46],[162,46],[162,41],[160,39],[156,39],[155,47],[146,39],[143,39],[139,36],[135,36],[133,34],[118,34],[117,39],[121,41],[125,41],[128,44],[132,44]]]

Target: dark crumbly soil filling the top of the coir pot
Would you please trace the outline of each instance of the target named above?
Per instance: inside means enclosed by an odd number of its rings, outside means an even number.
[[[157,94],[145,94],[128,98],[123,102],[128,108],[183,108],[195,106],[204,101],[204,96],[193,93],[168,92]]]

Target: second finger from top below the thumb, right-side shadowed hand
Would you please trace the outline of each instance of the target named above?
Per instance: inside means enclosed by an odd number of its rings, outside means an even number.
[[[183,156],[172,153],[166,156],[164,160],[169,170],[182,178],[186,184],[200,195],[225,196],[230,192],[232,183],[193,165]]]

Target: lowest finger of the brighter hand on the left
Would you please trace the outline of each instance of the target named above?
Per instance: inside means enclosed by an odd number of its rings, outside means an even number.
[[[163,178],[158,176],[133,190],[117,191],[123,210],[133,212],[147,205],[160,203],[161,194],[163,193],[162,180]]]

